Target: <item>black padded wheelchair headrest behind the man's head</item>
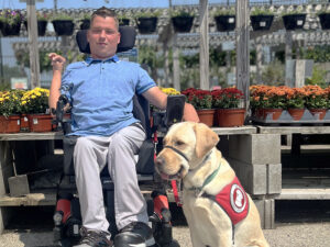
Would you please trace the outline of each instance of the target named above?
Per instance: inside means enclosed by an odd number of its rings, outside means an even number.
[[[119,26],[120,43],[117,46],[117,53],[127,52],[134,47],[136,31],[133,26]],[[76,41],[81,53],[90,54],[89,43],[87,41],[87,30],[79,30],[76,34]]]

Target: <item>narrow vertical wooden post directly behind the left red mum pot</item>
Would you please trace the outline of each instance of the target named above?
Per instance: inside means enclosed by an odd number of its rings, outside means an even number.
[[[210,89],[209,82],[209,13],[208,0],[199,0],[199,79],[200,88]]]

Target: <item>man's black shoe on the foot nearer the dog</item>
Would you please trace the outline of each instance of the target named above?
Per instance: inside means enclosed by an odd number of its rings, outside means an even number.
[[[155,245],[153,232],[147,224],[143,222],[132,222],[123,227],[114,237],[116,247],[152,247]]]

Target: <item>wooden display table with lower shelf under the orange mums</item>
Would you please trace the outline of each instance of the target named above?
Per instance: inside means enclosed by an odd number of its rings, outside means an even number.
[[[330,138],[330,126],[257,126],[257,133],[293,135],[292,153],[283,155],[288,161],[282,160],[282,192],[276,200],[330,200],[329,151],[315,146],[311,154],[302,154],[299,142],[304,135],[329,135]],[[279,144],[279,137],[274,138],[274,146]]]

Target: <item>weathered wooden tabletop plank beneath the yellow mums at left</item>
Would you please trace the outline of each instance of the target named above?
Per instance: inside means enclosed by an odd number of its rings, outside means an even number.
[[[63,132],[0,134],[0,141],[62,139]]]

